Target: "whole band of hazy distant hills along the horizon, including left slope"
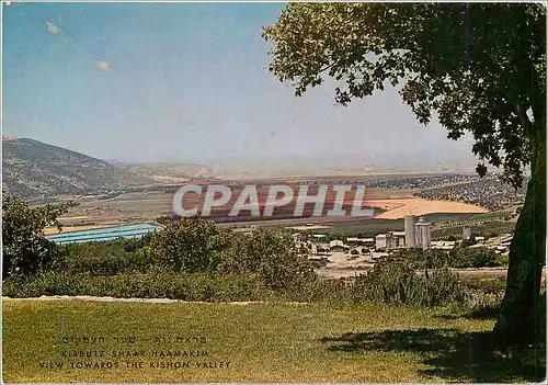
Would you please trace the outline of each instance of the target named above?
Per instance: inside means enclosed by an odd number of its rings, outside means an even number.
[[[470,165],[442,165],[432,160],[416,162],[418,166],[408,162],[407,167],[396,168],[391,165],[373,166],[374,159],[330,157],[216,159],[207,166],[189,162],[127,163],[96,159],[30,138],[12,137],[2,137],[2,148],[3,192],[28,200],[100,194],[128,186],[171,184],[202,178],[255,179],[473,171]]]

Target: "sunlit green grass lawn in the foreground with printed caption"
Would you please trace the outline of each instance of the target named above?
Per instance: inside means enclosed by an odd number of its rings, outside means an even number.
[[[493,322],[455,316],[448,310],[376,304],[139,304],[3,298],[3,381],[495,383],[534,380],[532,373],[516,374],[513,365],[483,352],[481,343]],[[64,343],[64,337],[103,337],[104,342],[83,343],[82,340],[76,344],[75,340],[67,340],[68,343]],[[135,338],[135,342],[122,340],[126,337]],[[115,338],[119,338],[117,342]],[[161,338],[171,338],[171,341]],[[69,354],[80,354],[80,351],[101,354],[102,351],[103,356],[64,358],[62,351],[71,352]],[[138,355],[118,358],[121,351]],[[160,351],[165,355],[168,351],[172,354],[198,351],[207,352],[207,356],[161,358]],[[155,352],[157,355],[152,355]],[[50,362],[62,363],[64,367],[49,367]],[[98,363],[98,366],[103,362],[103,367],[79,369],[78,365],[85,364],[78,362]],[[106,367],[115,362],[117,369]],[[142,367],[135,367],[140,362]],[[187,362],[189,366],[162,369],[156,367],[157,362],[164,365]],[[202,367],[203,364],[198,365],[202,362],[217,362],[217,366],[222,362],[224,367]]]

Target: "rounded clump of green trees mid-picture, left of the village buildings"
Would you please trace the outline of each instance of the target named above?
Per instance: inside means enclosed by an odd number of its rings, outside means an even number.
[[[297,252],[288,234],[222,230],[199,217],[170,222],[153,235],[148,250],[153,261],[175,272],[252,275],[274,291],[315,276],[307,257]]]

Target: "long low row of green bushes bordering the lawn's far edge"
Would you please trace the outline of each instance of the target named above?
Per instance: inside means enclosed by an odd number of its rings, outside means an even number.
[[[461,304],[465,295],[456,276],[434,269],[420,276],[403,261],[387,260],[355,280],[321,280],[315,275],[276,288],[260,273],[181,273],[158,267],[147,272],[114,275],[47,271],[5,279],[3,293],[11,297],[41,295],[94,295],[172,298],[201,302],[296,301],[330,304],[381,302],[413,306]]]

